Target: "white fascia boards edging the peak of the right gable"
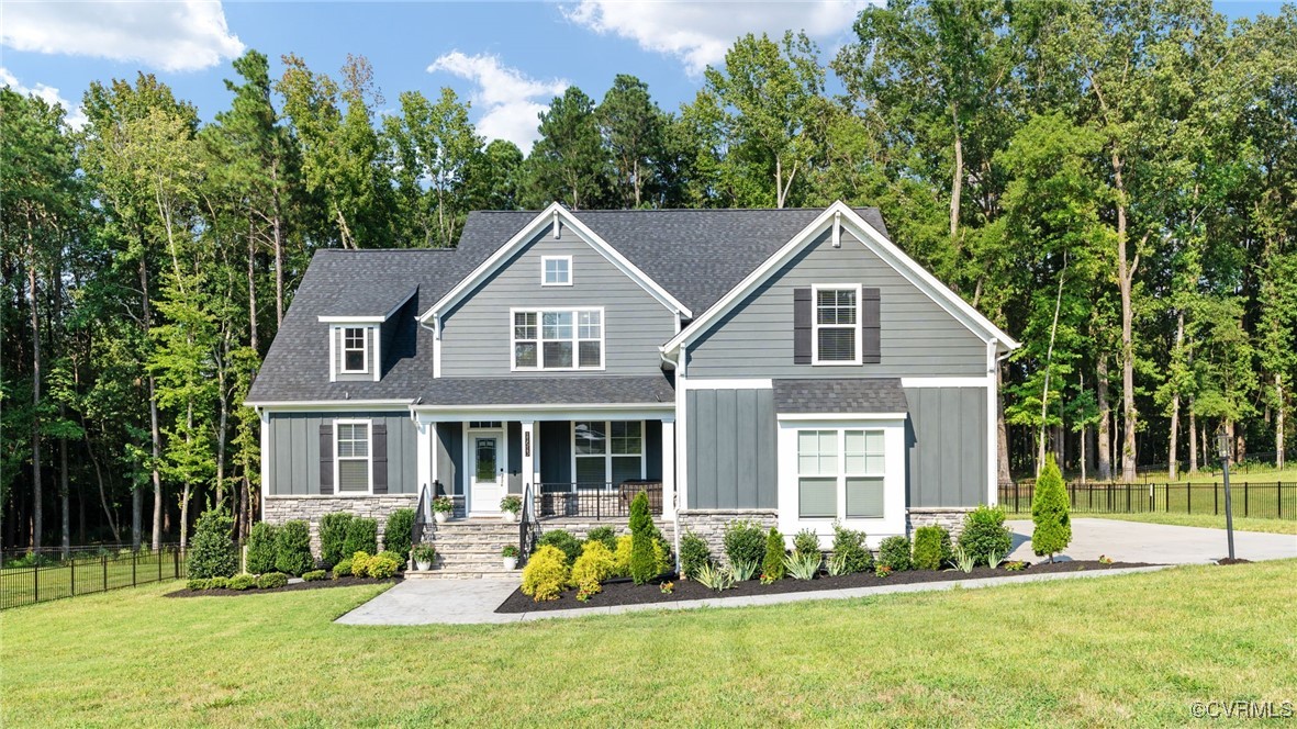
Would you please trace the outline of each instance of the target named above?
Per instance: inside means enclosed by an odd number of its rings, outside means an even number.
[[[829,208],[825,208],[824,213],[817,215],[815,221],[802,230],[802,232],[792,236],[789,243],[779,248],[779,250],[770,256],[755,271],[748,274],[742,281],[739,281],[738,285],[712,305],[711,309],[694,319],[694,322],[685,327],[682,332],[668,341],[663,346],[663,350],[669,354],[680,348],[681,344],[693,341],[694,337],[707,331],[712,323],[728,314],[739,301],[742,301],[744,296],[751,293],[757,285],[761,284],[761,281],[768,279],[776,269],[778,269],[778,266],[791,258],[815,236],[827,230],[829,226],[835,224],[844,226],[852,235],[856,236],[857,240],[861,241],[863,245],[869,248],[875,256],[882,258],[883,262],[895,269],[900,275],[914,284],[920,291],[927,294],[929,298],[935,301],[942,309],[948,311],[961,324],[977,333],[981,339],[994,339],[1009,350],[1021,346],[1017,340],[991,323],[991,320],[979,314],[977,309],[969,306],[969,304],[960,298],[958,294],[946,287],[946,284],[936,280],[935,276],[914,262],[914,259],[907,256],[905,252],[896,246],[896,244],[887,240],[887,236],[882,235],[877,228],[869,224],[868,221],[861,218],[855,210],[839,200]]]

